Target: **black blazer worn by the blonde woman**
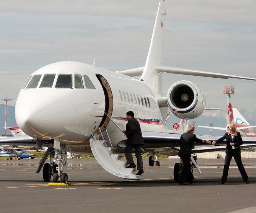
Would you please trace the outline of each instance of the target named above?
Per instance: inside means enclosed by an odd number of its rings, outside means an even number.
[[[226,154],[230,153],[232,150],[232,146],[230,145],[230,143],[235,143],[235,151],[239,154],[241,153],[239,146],[243,144],[243,140],[242,140],[242,137],[239,132],[237,133],[237,136],[234,136],[233,141],[232,141],[231,134],[228,134],[226,132],[225,135],[223,135],[221,138],[216,140],[216,143],[220,143],[225,139],[226,139],[226,143],[227,143],[226,150],[225,150]]]

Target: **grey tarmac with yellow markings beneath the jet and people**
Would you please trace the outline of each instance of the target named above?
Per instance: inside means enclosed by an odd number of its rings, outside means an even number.
[[[144,159],[140,181],[106,172],[95,159],[69,159],[64,172],[72,186],[49,186],[40,159],[0,160],[1,213],[5,212],[256,212],[256,159],[243,158],[249,176],[245,184],[232,159],[228,182],[219,185],[224,159],[198,159],[198,182],[180,186],[173,179],[179,159],[160,159],[150,167]]]

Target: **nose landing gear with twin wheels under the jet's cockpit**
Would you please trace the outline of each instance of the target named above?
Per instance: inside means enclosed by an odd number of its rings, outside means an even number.
[[[48,148],[45,154],[43,155],[38,169],[36,173],[39,173],[43,167],[43,180],[45,182],[50,182],[52,177],[52,182],[61,182],[67,183],[68,176],[66,173],[63,173],[64,166],[67,165],[67,147],[66,145],[62,145],[62,147],[58,149]],[[45,163],[48,155],[50,154],[50,164]]]

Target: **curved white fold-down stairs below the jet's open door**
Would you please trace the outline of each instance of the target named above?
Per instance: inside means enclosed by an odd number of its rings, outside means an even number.
[[[107,130],[105,129],[106,133]],[[101,133],[101,131],[100,131]],[[102,133],[101,133],[102,135]],[[108,141],[105,140],[97,140],[94,135],[90,139],[90,147],[92,149],[92,153],[97,160],[97,162],[102,166],[103,169],[105,169],[107,172],[111,173],[114,176],[122,177],[125,179],[131,179],[131,180],[139,180],[138,175],[135,175],[137,173],[136,170],[126,169],[126,162],[121,161],[122,155],[115,154],[115,148],[107,147]],[[107,134],[108,136],[108,134]],[[103,137],[103,135],[102,135]],[[108,136],[109,137],[109,136]],[[99,137],[98,137],[99,138]],[[104,137],[103,137],[104,138]],[[109,140],[110,142],[110,140]],[[111,144],[111,142],[110,142]]]

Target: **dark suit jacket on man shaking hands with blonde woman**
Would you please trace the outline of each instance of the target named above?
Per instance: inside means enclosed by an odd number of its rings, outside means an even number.
[[[206,141],[197,138],[195,134],[190,133],[189,131],[186,133],[183,133],[180,136],[180,151],[178,153],[178,156],[191,155],[191,150],[195,142],[206,143]]]

